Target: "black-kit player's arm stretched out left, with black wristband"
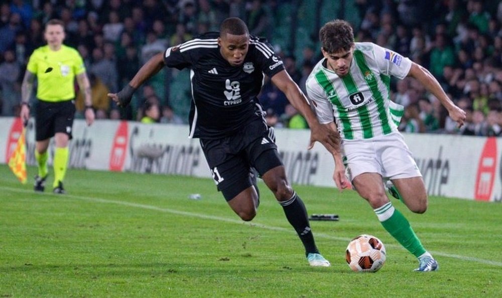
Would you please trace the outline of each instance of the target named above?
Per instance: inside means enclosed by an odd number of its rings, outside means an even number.
[[[164,65],[164,52],[156,54],[140,68],[129,84],[123,87],[118,93],[108,93],[108,96],[119,106],[127,106],[131,102],[136,89],[158,73]]]

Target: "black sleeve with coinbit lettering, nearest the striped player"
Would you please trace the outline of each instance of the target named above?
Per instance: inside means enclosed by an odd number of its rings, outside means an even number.
[[[255,57],[262,72],[269,78],[284,70],[283,61],[275,55],[274,48],[266,40],[252,38],[250,44],[254,46]]]

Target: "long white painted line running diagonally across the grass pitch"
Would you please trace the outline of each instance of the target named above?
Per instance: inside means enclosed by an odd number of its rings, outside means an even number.
[[[5,190],[12,191],[12,192],[17,192],[17,193],[33,194],[33,191],[31,191],[31,190],[29,191],[29,190],[25,190],[25,189],[17,189],[17,188],[11,188],[11,187],[0,187],[0,189],[5,189]],[[45,194],[45,193],[40,193],[39,195],[54,196],[53,194]],[[231,218],[220,217],[220,216],[212,216],[212,215],[206,215],[206,214],[200,214],[200,213],[194,213],[194,212],[180,211],[180,210],[169,209],[169,208],[160,208],[160,207],[156,207],[156,206],[152,206],[152,205],[130,203],[130,202],[123,202],[123,201],[116,201],[116,200],[108,200],[108,199],[100,199],[100,198],[92,198],[92,197],[84,197],[84,196],[75,196],[75,195],[70,195],[70,194],[57,195],[57,196],[60,198],[65,198],[65,199],[68,198],[68,199],[77,199],[77,200],[83,200],[83,201],[89,201],[89,202],[95,202],[95,203],[129,206],[129,207],[154,210],[154,211],[171,213],[171,214],[176,214],[176,215],[197,217],[197,218],[201,218],[201,219],[210,219],[210,220],[216,220],[216,221],[222,221],[222,222],[228,222],[228,223],[248,224],[249,226],[254,226],[254,227],[258,227],[258,228],[262,228],[262,229],[293,233],[291,228],[274,227],[274,226],[268,226],[268,225],[264,225],[264,224],[260,224],[260,223],[256,223],[256,222],[253,222],[253,223],[252,222],[245,222],[245,221],[238,220],[238,219],[231,219]],[[351,238],[336,237],[336,236],[332,236],[332,235],[328,235],[328,234],[324,234],[324,233],[315,233],[315,237],[344,241],[344,242],[348,242],[351,240]],[[397,244],[386,244],[386,246],[405,250],[404,247],[402,247],[401,245],[397,245]],[[459,259],[462,261],[471,261],[471,262],[476,262],[476,263],[481,263],[481,264],[502,267],[502,262],[485,260],[485,259],[480,259],[480,258],[475,258],[475,257],[468,257],[468,256],[463,256],[463,255],[458,255],[458,254],[450,254],[450,253],[439,252],[439,251],[430,251],[430,252],[433,255],[439,255],[439,256],[443,256],[443,257]]]

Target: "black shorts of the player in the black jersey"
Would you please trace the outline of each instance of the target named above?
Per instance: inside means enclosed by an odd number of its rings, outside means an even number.
[[[260,175],[283,166],[277,152],[274,129],[262,119],[249,123],[231,136],[200,139],[218,191],[227,201],[253,185],[249,173],[255,168]]]

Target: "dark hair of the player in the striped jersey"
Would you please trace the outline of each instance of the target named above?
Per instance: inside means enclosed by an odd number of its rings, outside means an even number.
[[[348,51],[354,45],[354,32],[347,21],[333,20],[322,26],[319,40],[327,53]]]

